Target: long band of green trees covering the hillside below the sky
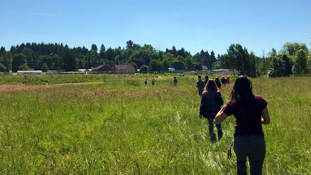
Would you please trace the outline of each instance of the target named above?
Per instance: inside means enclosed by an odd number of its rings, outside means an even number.
[[[68,45],[53,43],[22,43],[6,50],[0,49],[0,72],[16,72],[18,70],[49,70],[76,71],[77,69],[92,69],[98,65],[129,63],[136,69],[150,71],[168,71],[170,67],[177,70],[208,69],[237,70],[239,74],[256,77],[268,75],[271,77],[290,76],[292,74],[311,74],[311,53],[303,43],[285,43],[277,53],[275,49],[260,57],[253,51],[248,51],[240,44],[232,44],[225,54],[215,54],[203,49],[192,55],[190,52],[176,49],[156,50],[152,45],[139,45],[131,40],[126,42],[126,48],[111,48],[102,44],[98,49],[93,44],[91,49],[83,47],[69,48]]]

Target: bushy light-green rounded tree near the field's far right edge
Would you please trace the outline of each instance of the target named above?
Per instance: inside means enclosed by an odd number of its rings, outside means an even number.
[[[306,74],[307,70],[307,56],[308,52],[300,49],[293,54],[293,74]]]

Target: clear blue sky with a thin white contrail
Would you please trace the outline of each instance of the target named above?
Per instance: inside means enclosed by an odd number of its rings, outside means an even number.
[[[42,41],[123,48],[128,40],[192,54],[224,54],[232,43],[258,56],[288,41],[311,48],[310,0],[2,0],[0,6],[0,46],[7,50]]]

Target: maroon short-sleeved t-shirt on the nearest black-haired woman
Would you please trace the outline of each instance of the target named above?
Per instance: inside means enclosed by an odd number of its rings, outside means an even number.
[[[228,116],[234,115],[236,121],[234,137],[244,135],[263,135],[261,126],[262,110],[268,102],[259,95],[250,97],[247,103],[236,99],[227,104],[223,112]]]

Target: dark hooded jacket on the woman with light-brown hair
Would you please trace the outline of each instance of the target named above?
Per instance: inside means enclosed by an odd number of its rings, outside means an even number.
[[[220,106],[222,105],[224,105],[224,99],[222,99],[221,93],[209,89],[207,93],[203,93],[200,104],[200,114],[202,114],[204,118],[213,119],[220,111]]]

